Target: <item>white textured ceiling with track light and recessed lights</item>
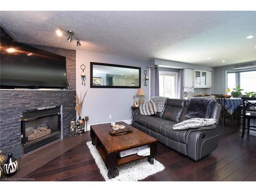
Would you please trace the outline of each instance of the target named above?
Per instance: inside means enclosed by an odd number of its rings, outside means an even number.
[[[32,45],[207,66],[256,60],[255,11],[1,11],[1,24]],[[58,26],[82,46],[58,37]]]

